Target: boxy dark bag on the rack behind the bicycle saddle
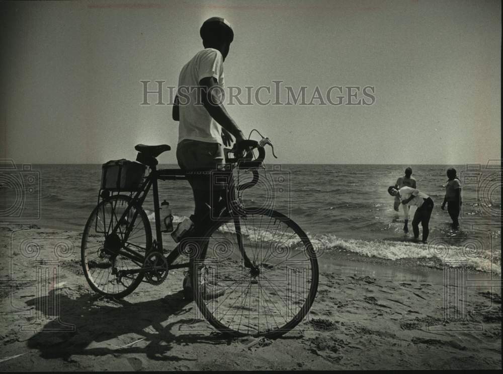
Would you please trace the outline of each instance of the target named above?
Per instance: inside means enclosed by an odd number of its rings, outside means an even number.
[[[101,188],[109,191],[138,191],[141,187],[145,165],[126,159],[103,164]]]

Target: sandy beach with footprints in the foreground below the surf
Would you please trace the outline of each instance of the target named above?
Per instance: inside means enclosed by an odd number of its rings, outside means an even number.
[[[306,320],[275,340],[229,338],[183,300],[181,270],[121,301],[99,297],[80,237],[0,227],[0,370],[501,368],[500,278],[488,273],[445,287],[441,269],[324,254]]]

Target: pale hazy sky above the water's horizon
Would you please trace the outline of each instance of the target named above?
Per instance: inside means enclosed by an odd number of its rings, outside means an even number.
[[[140,105],[140,81],[176,86],[211,16],[235,32],[227,86],[281,80],[307,86],[307,101],[316,86],[375,87],[369,106],[229,106],[281,163],[500,158],[499,1],[17,2],[0,13],[2,158],[104,163],[167,143],[159,161],[176,163],[171,106]]]

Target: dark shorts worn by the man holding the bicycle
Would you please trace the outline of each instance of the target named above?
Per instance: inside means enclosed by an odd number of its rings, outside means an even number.
[[[223,147],[219,143],[185,139],[178,143],[177,160],[181,169],[187,171],[210,171],[224,165]],[[193,189],[209,190],[210,174],[195,173],[188,179]]]

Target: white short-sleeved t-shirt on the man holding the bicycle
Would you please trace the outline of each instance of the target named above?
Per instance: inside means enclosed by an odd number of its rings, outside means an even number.
[[[214,77],[222,90],[215,91],[223,94],[223,57],[220,51],[206,48],[196,53],[185,64],[178,79],[178,97],[180,100],[180,125],[178,128],[178,142],[184,139],[222,143],[221,127],[211,118],[202,104],[199,82],[203,78]]]

